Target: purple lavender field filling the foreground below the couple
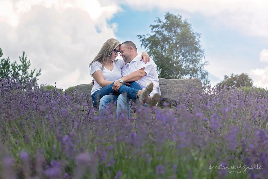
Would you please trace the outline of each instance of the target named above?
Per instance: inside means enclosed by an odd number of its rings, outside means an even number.
[[[266,91],[208,88],[163,105],[118,120],[76,91],[0,79],[1,178],[268,176]]]

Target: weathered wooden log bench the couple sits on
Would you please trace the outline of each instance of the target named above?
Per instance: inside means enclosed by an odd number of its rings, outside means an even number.
[[[165,79],[159,78],[159,87],[161,90],[161,99],[169,102],[176,101],[180,94],[185,94],[191,90],[202,90],[202,82],[200,79]],[[84,92],[85,95],[91,95],[91,84],[77,85],[78,92]]]

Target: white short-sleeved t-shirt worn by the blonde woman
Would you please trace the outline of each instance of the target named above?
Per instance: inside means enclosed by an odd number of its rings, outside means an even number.
[[[122,78],[122,72],[121,68],[125,65],[125,62],[123,59],[118,59],[116,61],[113,61],[113,70],[107,70],[105,67],[102,69],[102,64],[98,61],[94,61],[93,64],[89,67],[90,69],[90,75],[92,76],[94,72],[101,71],[103,78],[105,81],[116,81],[119,78]],[[97,81],[94,81],[93,88],[91,90],[91,95],[97,91],[102,89],[102,87],[98,84]]]

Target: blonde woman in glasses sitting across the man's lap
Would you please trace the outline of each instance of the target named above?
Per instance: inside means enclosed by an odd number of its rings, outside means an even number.
[[[111,92],[113,92],[113,94],[127,92],[127,96],[130,99],[139,98],[143,103],[147,101],[147,97],[152,92],[152,83],[150,83],[146,89],[142,89],[136,82],[131,82],[130,84],[124,83],[119,88],[119,92],[111,91],[109,85],[112,85],[114,81],[122,77],[121,68],[125,65],[123,60],[116,60],[117,55],[120,53],[119,45],[120,42],[118,40],[114,38],[108,39],[89,65],[90,75],[95,79],[94,86],[91,90],[94,107],[98,107],[99,99],[105,95],[109,95]],[[143,53],[142,57],[143,59],[149,60],[149,55],[147,53]],[[132,88],[127,87],[125,84],[131,85]]]

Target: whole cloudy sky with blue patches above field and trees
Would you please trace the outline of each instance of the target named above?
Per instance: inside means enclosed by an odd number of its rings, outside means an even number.
[[[91,82],[88,64],[109,38],[144,51],[137,35],[169,11],[201,33],[212,86],[244,72],[268,88],[267,9],[264,0],[0,0],[0,48],[12,61],[25,51],[39,84],[68,88]]]

